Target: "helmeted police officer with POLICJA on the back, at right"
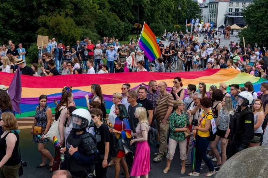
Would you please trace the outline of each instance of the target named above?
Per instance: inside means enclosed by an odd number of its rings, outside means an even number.
[[[231,115],[229,128],[231,129],[231,145],[228,148],[227,158],[243,149],[248,148],[254,136],[254,114],[248,107],[254,103],[250,92],[240,92],[237,95],[237,110]]]

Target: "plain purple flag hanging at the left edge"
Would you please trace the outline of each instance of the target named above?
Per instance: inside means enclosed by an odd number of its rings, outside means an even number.
[[[13,110],[21,114],[20,102],[21,102],[21,78],[20,78],[20,67],[15,73],[9,87],[8,95],[11,98]]]

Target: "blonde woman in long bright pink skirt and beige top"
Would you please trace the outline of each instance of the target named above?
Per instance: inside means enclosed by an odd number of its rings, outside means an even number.
[[[130,175],[136,178],[143,175],[144,178],[148,178],[150,171],[150,147],[147,142],[149,132],[147,113],[144,107],[137,107],[134,115],[139,119],[139,123],[136,127],[136,134],[133,134],[137,139],[133,139],[130,142],[130,145],[137,142]]]

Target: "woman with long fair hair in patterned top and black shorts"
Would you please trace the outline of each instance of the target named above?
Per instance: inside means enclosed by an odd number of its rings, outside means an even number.
[[[217,164],[214,165],[214,168],[219,168],[226,162],[226,147],[228,143],[228,139],[230,136],[229,122],[231,115],[234,114],[234,108],[232,104],[231,97],[224,97],[222,100],[222,108],[220,109],[220,113],[216,122],[217,131],[216,138],[210,144],[210,149],[217,159]],[[216,145],[221,141],[221,157],[219,152],[216,149]]]

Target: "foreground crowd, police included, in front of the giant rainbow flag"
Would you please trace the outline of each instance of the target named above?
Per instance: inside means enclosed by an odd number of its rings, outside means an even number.
[[[141,85],[136,90],[130,90],[128,83],[123,84],[122,93],[113,94],[114,105],[108,119],[103,117],[104,99],[98,84],[92,84],[92,95],[85,96],[88,110],[75,107],[72,87],[65,86],[59,103],[55,101],[54,122],[58,122],[59,144],[55,146],[54,157],[46,149],[47,135],[55,128],[51,127],[52,110],[47,105],[47,96],[41,95],[30,133],[41,153],[41,163],[36,168],[46,167],[53,172],[69,170],[72,177],[106,177],[108,167],[114,166],[115,177],[118,178],[121,164],[122,174],[127,178],[148,177],[152,169],[150,161],[160,162],[164,157],[167,163],[163,173],[170,171],[178,143],[181,174],[185,174],[186,166],[193,163],[191,152],[195,139],[195,169],[188,175],[199,176],[200,170],[207,165],[205,176],[212,176],[237,152],[260,144],[268,145],[267,82],[261,83],[260,96],[254,92],[250,81],[244,87],[229,85],[230,92],[226,91],[225,83],[210,86],[209,92],[204,82],[200,82],[198,88],[189,84],[186,90],[182,88],[179,76],[174,78],[173,83],[170,92],[164,81],[158,84],[149,81],[148,86]],[[11,177],[18,177],[19,131],[6,90],[3,85],[0,86],[0,172],[7,177],[11,176],[9,168],[14,169]],[[185,94],[188,96],[184,97]],[[212,133],[213,125],[215,133]],[[36,127],[42,128],[41,133],[36,134]],[[151,127],[158,130],[155,147],[159,152],[154,153],[154,159],[150,158],[151,147],[148,144]],[[185,135],[188,129],[190,137]],[[114,133],[119,145],[114,156],[110,153],[111,133]],[[135,147],[131,150],[129,147],[133,145]],[[212,161],[216,164],[213,165]]]

